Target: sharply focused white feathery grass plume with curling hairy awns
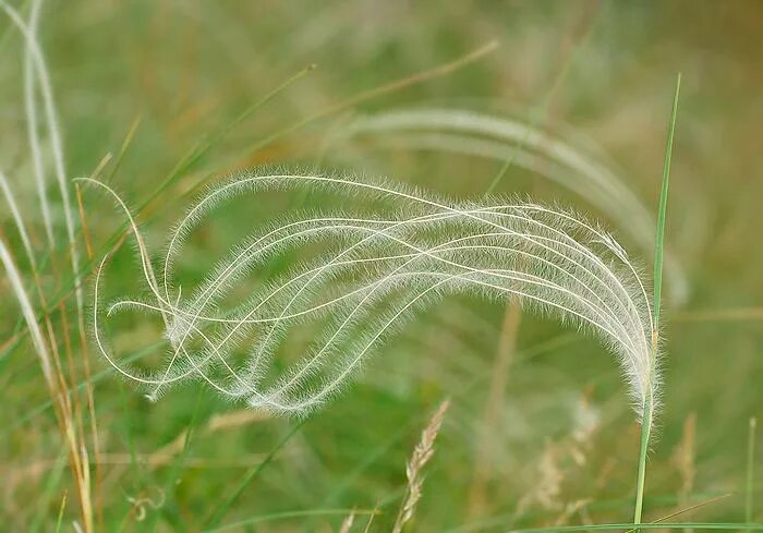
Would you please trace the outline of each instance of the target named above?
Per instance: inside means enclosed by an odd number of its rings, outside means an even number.
[[[195,378],[223,397],[272,413],[303,414],[335,396],[385,339],[416,311],[452,293],[516,301],[598,335],[617,355],[639,416],[656,403],[652,315],[638,269],[604,230],[582,217],[530,203],[455,203],[383,182],[320,174],[244,172],[208,189],[170,232],[158,276],[126,205],[147,295],[108,305],[158,314],[167,340],[152,373],[122,366],[100,329],[104,257],[95,292],[95,340],[124,376],[157,399]],[[175,286],[175,263],[192,231],[246,194],[307,187],[337,195],[337,213],[295,213],[256,229],[198,287]],[[350,209],[352,206],[352,209]],[[310,258],[245,284],[284,254]],[[246,287],[247,298],[231,304]],[[304,353],[276,361],[290,331],[316,331]],[[282,368],[278,372],[278,368]]]

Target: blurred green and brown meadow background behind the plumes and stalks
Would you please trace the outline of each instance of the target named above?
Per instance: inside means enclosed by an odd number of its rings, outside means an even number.
[[[760,417],[763,404],[763,249],[756,245],[763,229],[758,206],[763,194],[761,22],[763,9],[754,1],[85,1],[63,9],[51,0],[41,36],[71,174],[89,174],[105,154],[119,154],[141,118],[111,179],[135,206],[197,143],[214,137],[301,69],[318,65],[238,124],[149,206],[145,230],[155,249],[202,179],[262,162],[354,167],[459,197],[479,196],[501,170],[500,162],[373,144],[348,162],[344,154],[324,150],[324,143],[353,113],[390,106],[509,106],[532,119],[576,47],[582,48],[541,125],[566,123],[602,145],[656,213],[666,102],[680,70],[681,125],[666,246],[687,269],[691,293],[683,307],[665,304],[665,410],[652,445],[644,520],[732,492],[680,520],[736,522],[746,509],[748,420]],[[8,23],[2,24],[5,34]],[[337,101],[447,63],[494,38],[500,47],[479,62],[252,149]],[[0,35],[0,161],[13,170],[15,192],[25,211],[34,214],[16,34]],[[593,210],[516,167],[497,191]],[[85,201],[90,238],[100,246],[122,220],[95,196],[86,194]],[[232,206],[194,235],[183,276],[193,279],[204,271],[199,262],[227,247],[229,235],[240,234],[241,219],[251,227],[293,202],[279,197]],[[311,207],[311,198],[305,202]],[[55,207],[60,217],[60,205]],[[1,211],[0,222],[10,228],[10,214]],[[34,230],[41,241],[41,226]],[[283,268],[271,265],[269,271]],[[110,271],[114,290],[130,289],[134,269],[129,250],[120,250]],[[4,281],[0,293],[8,293]],[[502,531],[630,518],[639,428],[617,371],[594,341],[532,317],[522,318],[507,402],[489,432],[487,507],[482,516],[469,516],[475,435],[502,316],[500,305],[453,299],[422,317],[371,362],[359,384],[288,439],[244,486],[226,520],[262,518],[256,531],[329,531],[343,519],[331,510],[378,506],[383,514],[374,526],[384,531],[403,496],[404,464],[419,432],[446,396],[451,408],[429,463],[415,531]],[[17,318],[8,298],[0,301],[0,317],[4,342]],[[143,351],[154,334],[150,324],[126,320],[110,331],[117,349],[137,356],[157,356]],[[95,358],[92,364],[96,376],[108,372]],[[74,493],[66,469],[60,481],[57,476],[60,437],[51,411],[43,409],[49,399],[40,379],[26,342],[3,350],[0,519],[11,530],[35,520],[53,530],[63,509],[61,529],[66,531],[76,517]],[[198,395],[186,387],[149,404],[131,387],[122,390],[116,378],[95,381],[104,531],[144,531],[154,524],[157,531],[199,529],[294,424],[247,417],[211,392],[201,402]],[[692,413],[697,435],[687,462],[683,421]],[[753,480],[752,486],[760,496],[760,482]],[[70,494],[65,507],[64,490]],[[299,514],[311,510],[315,516]],[[146,518],[137,522],[142,511]],[[280,519],[265,521],[268,516]]]

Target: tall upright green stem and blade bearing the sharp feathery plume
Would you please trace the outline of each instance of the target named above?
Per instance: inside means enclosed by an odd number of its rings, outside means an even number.
[[[681,74],[676,81],[676,92],[673,97],[673,110],[668,124],[667,142],[665,146],[665,163],[663,166],[663,186],[659,194],[659,211],[657,214],[657,234],[654,245],[654,299],[652,303],[652,364],[656,361],[659,341],[659,308],[663,290],[663,251],[665,242],[665,220],[667,215],[668,184],[670,181],[670,159],[673,157],[673,142],[676,133],[676,116],[678,113],[678,95],[681,88]],[[650,375],[650,379],[653,373]],[[644,402],[644,413],[641,422],[641,450],[639,455],[639,474],[635,484],[635,508],[633,511],[633,523],[641,523],[641,514],[644,504],[644,482],[646,477],[646,452],[649,450],[650,434],[652,433],[652,416],[654,402],[651,395],[652,385],[647,386],[650,391]]]

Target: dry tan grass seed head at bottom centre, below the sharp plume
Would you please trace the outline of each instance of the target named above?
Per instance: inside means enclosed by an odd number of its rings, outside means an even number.
[[[449,407],[449,400],[445,400],[439,404],[435,414],[432,415],[429,423],[421,433],[421,439],[413,449],[408,464],[405,464],[408,489],[405,490],[405,499],[403,499],[400,506],[398,517],[395,519],[392,533],[400,533],[416,511],[416,505],[421,499],[421,488],[424,485],[423,470],[426,463],[429,462],[429,459],[432,459],[432,456],[435,455],[435,439],[437,438],[439,428],[443,425],[443,420],[445,420],[445,413],[448,411]]]

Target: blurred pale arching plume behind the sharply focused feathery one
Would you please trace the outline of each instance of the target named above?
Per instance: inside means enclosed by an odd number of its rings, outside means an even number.
[[[460,108],[410,108],[359,117],[335,142],[353,138],[404,150],[438,150],[506,161],[571,191],[618,225],[644,251],[653,246],[649,209],[626,184],[623,171],[579,133],[538,129],[505,113]],[[666,258],[670,298],[686,301],[681,265]]]

